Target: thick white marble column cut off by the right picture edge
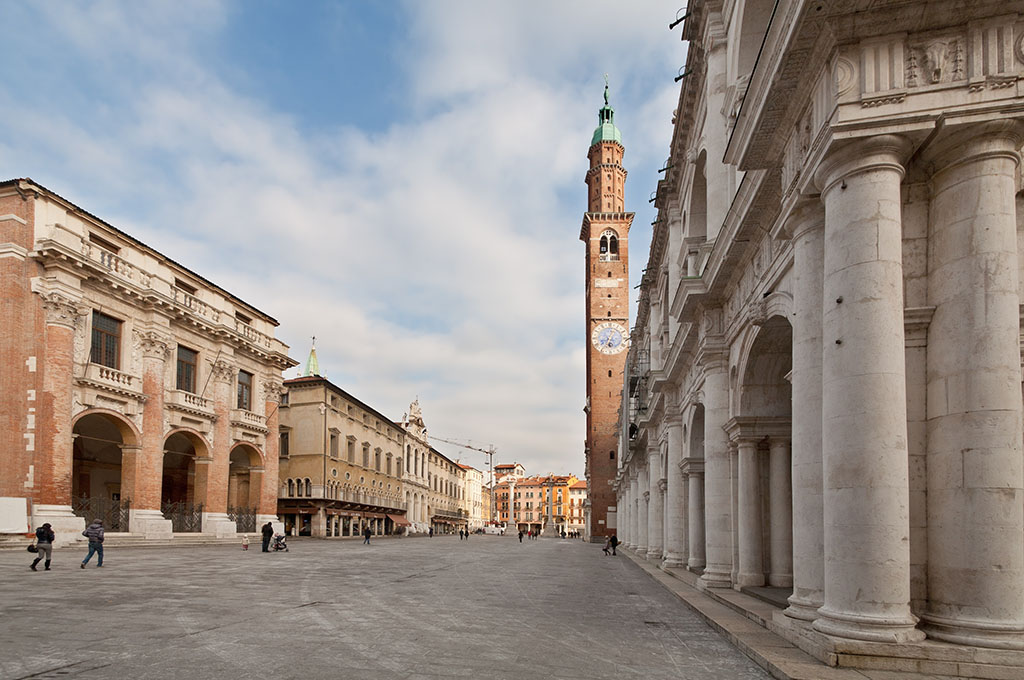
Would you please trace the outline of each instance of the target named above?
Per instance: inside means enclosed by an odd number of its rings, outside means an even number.
[[[935,142],[929,210],[929,637],[1024,649],[1015,177],[1020,122]]]

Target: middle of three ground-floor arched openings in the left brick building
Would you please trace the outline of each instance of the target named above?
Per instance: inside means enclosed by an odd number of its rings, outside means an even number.
[[[160,511],[171,520],[174,532],[203,530],[208,452],[202,437],[187,430],[172,432],[164,441]]]

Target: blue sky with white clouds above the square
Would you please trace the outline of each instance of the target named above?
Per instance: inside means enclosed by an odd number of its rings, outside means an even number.
[[[587,150],[607,74],[636,286],[677,5],[5,3],[0,178],[273,316],[302,364],[315,335],[321,373],[393,420],[419,398],[433,435],[582,477]]]

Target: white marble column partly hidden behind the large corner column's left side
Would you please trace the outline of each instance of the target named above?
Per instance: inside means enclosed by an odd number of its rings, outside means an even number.
[[[824,206],[799,204],[793,235],[793,595],[785,615],[818,618],[824,602],[824,510],[821,505],[821,294]]]

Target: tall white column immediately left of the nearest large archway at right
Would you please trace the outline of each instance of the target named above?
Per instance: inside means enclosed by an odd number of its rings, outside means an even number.
[[[729,377],[724,352],[705,363],[705,538],[706,588],[732,584],[732,479],[729,439]]]

